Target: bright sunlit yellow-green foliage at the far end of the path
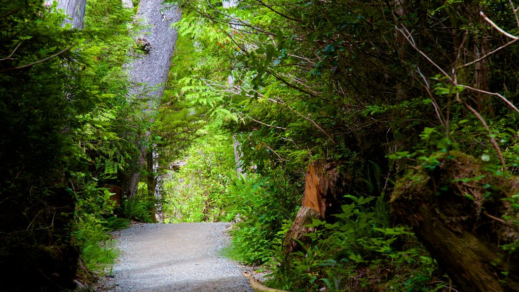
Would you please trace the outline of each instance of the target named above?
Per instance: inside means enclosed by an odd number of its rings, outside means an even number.
[[[187,151],[185,166],[167,172],[163,209],[165,222],[222,219],[222,200],[236,177],[233,139],[228,135],[202,137]]]

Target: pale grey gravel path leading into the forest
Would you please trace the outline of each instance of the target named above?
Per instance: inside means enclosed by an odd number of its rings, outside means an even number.
[[[115,233],[114,292],[252,292],[242,268],[220,254],[229,223],[136,224]]]

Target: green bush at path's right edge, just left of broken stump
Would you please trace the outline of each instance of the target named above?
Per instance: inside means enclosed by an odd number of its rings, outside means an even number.
[[[229,219],[236,216],[237,220],[230,231],[233,241],[227,253],[231,258],[253,266],[271,262],[272,249],[288,230],[298,201],[282,178],[251,174],[231,185],[223,200]]]

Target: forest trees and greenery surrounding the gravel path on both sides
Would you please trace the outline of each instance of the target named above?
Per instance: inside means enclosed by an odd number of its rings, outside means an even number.
[[[137,8],[0,4],[2,289],[110,273],[129,220],[239,214],[229,256],[277,288],[519,290],[517,3],[179,1],[153,118]]]

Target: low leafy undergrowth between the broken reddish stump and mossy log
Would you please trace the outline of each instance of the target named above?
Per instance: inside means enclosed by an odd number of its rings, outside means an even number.
[[[308,225],[318,231],[307,234],[308,245],[300,242],[301,251],[284,256],[277,247],[276,257],[283,260],[271,285],[292,291],[438,291],[448,286],[412,232],[387,227],[387,218],[370,203],[375,197],[348,197],[353,202],[342,206],[336,222]]]

